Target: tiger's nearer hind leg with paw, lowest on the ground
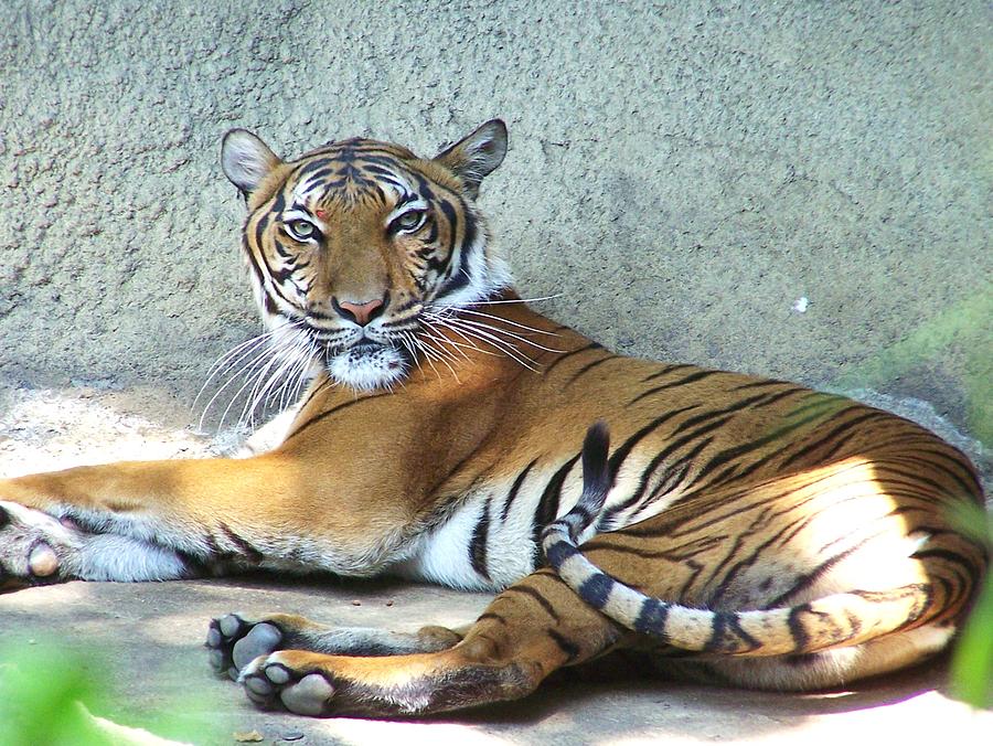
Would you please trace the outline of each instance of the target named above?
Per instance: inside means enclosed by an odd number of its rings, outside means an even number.
[[[437,652],[342,656],[277,642],[239,681],[256,704],[302,715],[425,715],[523,697],[627,635],[545,569],[503,592],[461,641]]]

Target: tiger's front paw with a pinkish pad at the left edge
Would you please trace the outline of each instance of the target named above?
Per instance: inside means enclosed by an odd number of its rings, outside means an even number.
[[[0,590],[72,577],[83,532],[47,513],[0,501]]]

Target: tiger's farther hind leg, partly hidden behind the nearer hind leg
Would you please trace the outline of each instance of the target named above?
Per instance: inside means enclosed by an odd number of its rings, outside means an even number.
[[[399,656],[437,652],[462,636],[445,627],[424,627],[416,633],[388,632],[366,627],[325,626],[289,614],[246,619],[228,614],[212,619],[205,647],[214,671],[237,680],[259,656],[277,650],[308,650],[344,656]]]

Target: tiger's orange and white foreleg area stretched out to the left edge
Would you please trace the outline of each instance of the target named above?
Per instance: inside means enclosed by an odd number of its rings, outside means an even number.
[[[0,480],[0,586],[252,567],[376,572],[389,547],[382,535],[355,531],[351,524],[369,516],[346,498],[332,501],[334,494],[335,486],[308,473],[302,459],[277,454]]]

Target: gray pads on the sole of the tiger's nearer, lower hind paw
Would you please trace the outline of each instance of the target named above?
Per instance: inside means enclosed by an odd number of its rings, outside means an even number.
[[[334,696],[334,685],[322,673],[295,671],[280,660],[278,652],[253,661],[238,681],[258,706],[271,708],[281,704],[298,715],[328,715]]]

